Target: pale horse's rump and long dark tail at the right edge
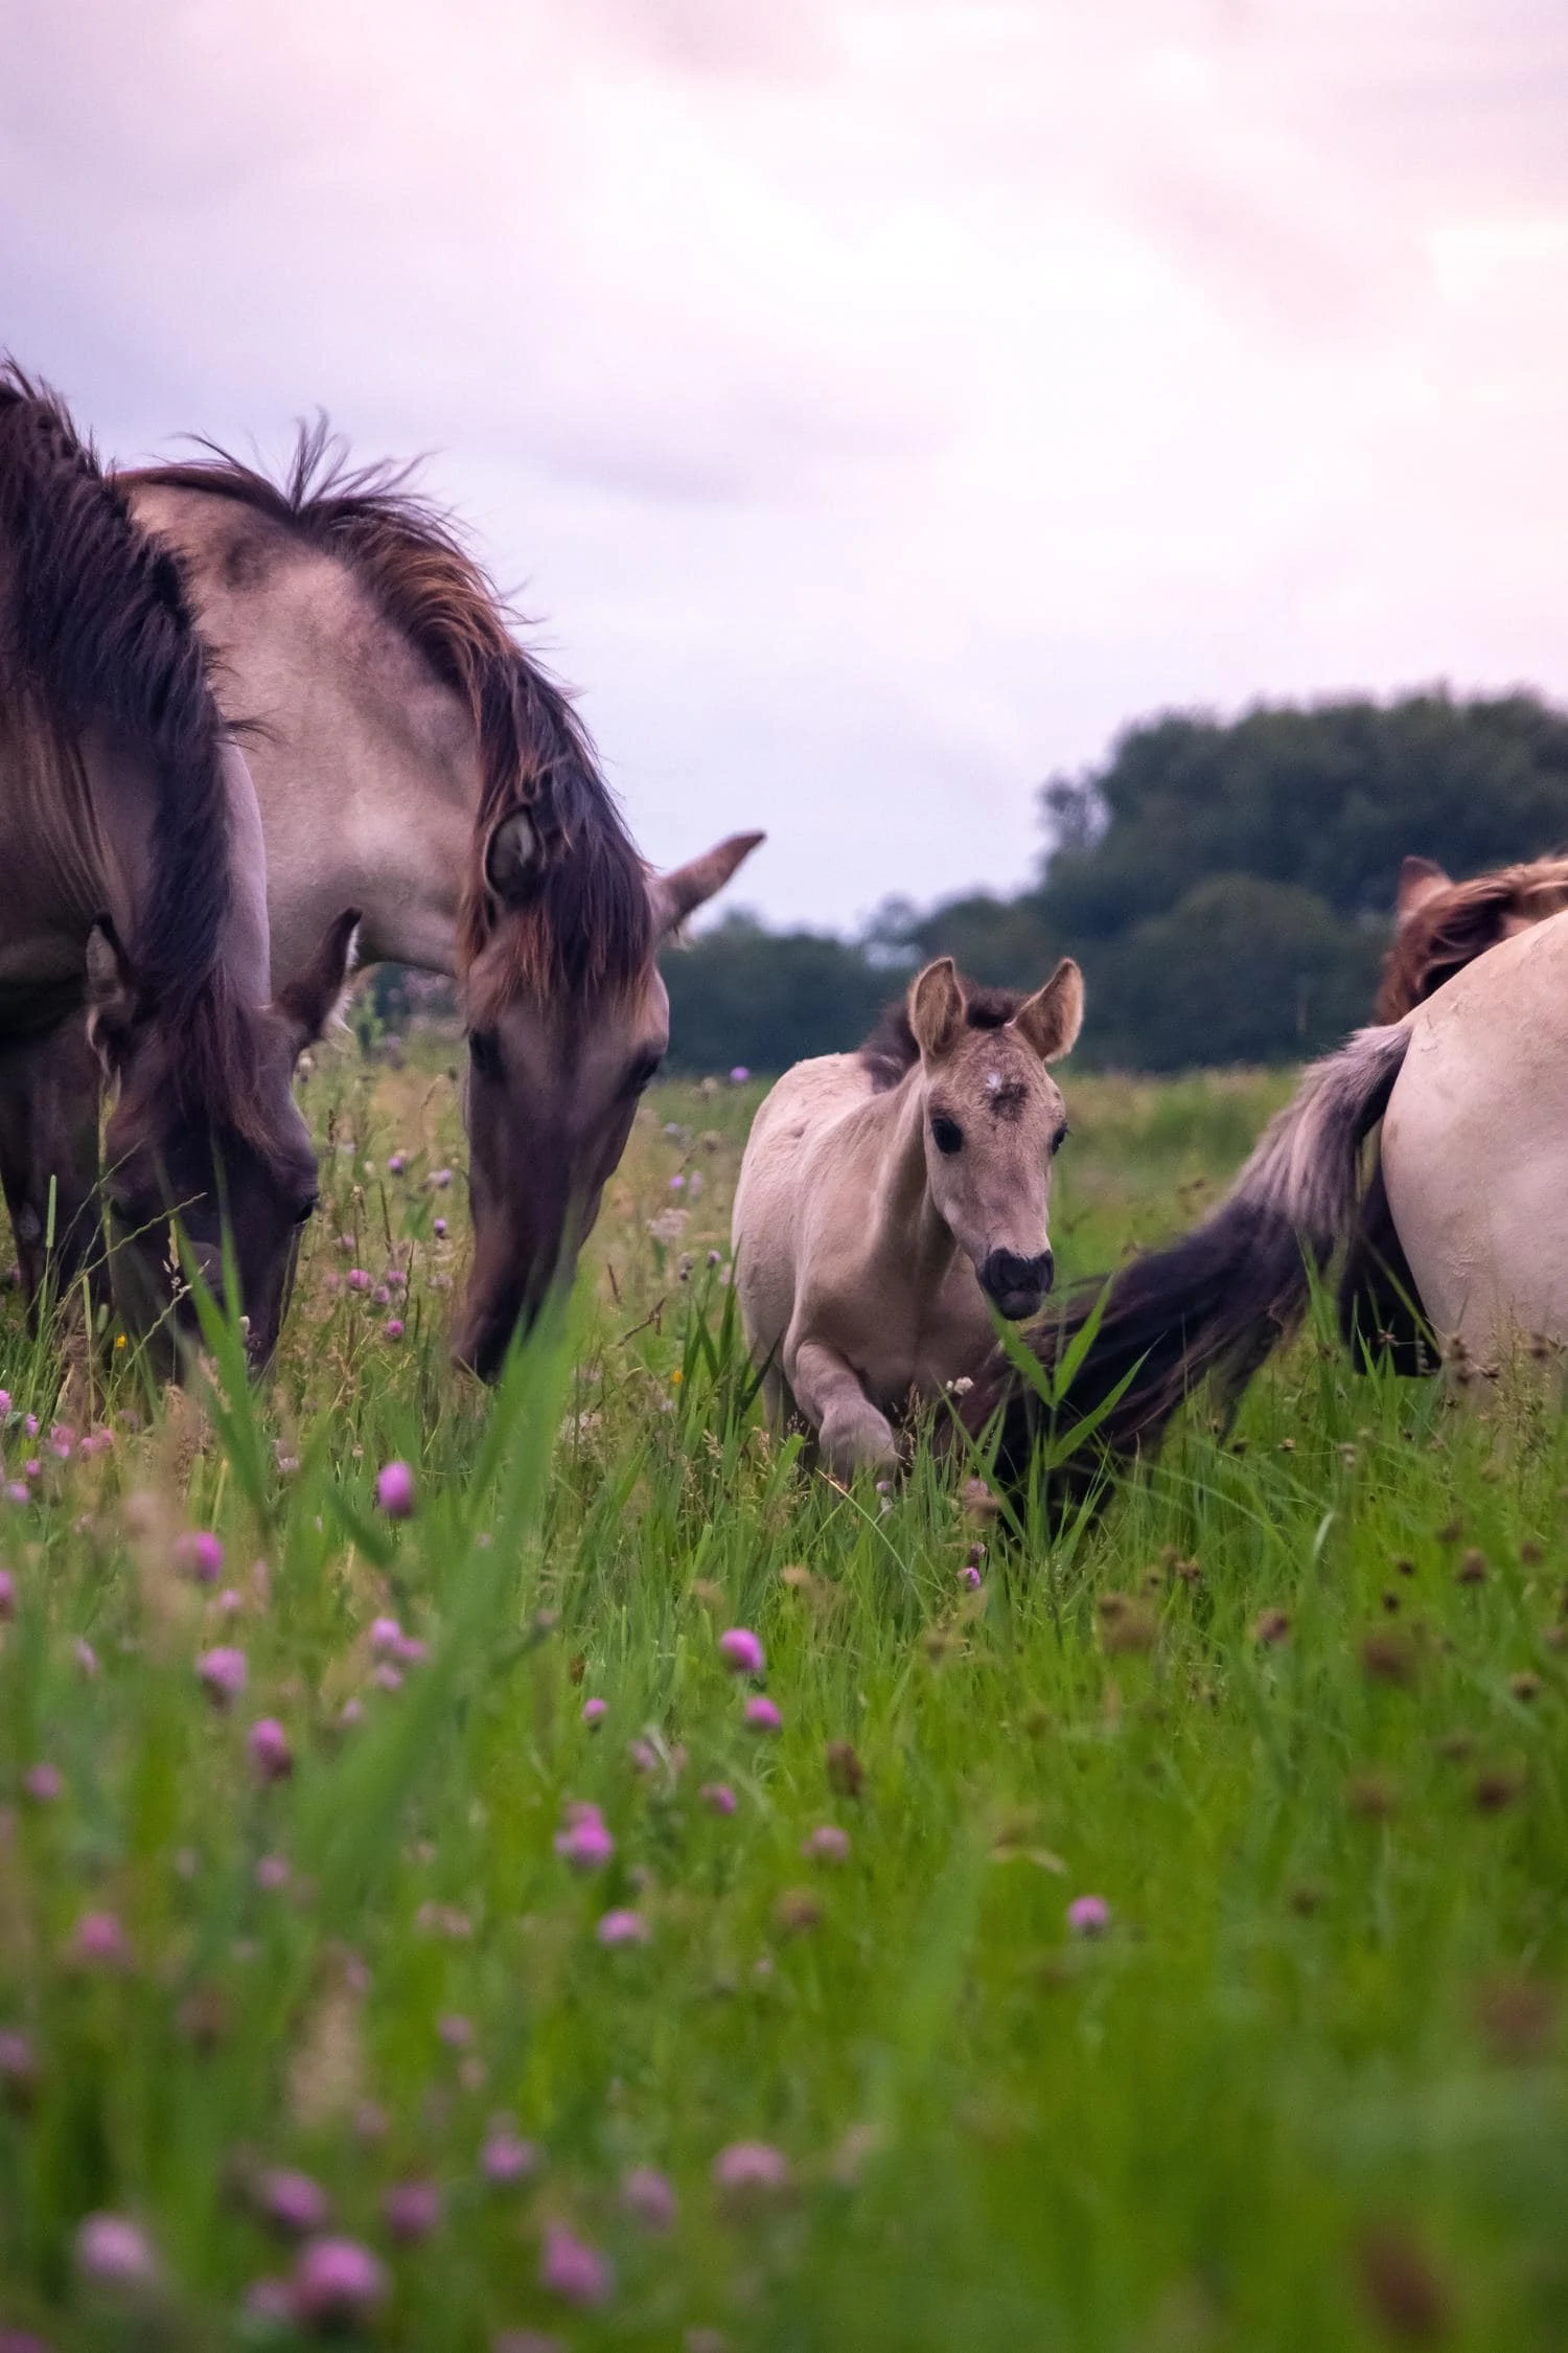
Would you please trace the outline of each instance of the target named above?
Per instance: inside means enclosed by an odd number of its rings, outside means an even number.
[[[1312,1275],[1354,1231],[1361,1146],[1380,1120],[1394,1240],[1453,1353],[1490,1369],[1519,1339],[1568,1341],[1563,913],[1502,939],[1401,1021],[1359,1031],[1312,1064],[1213,1217],[1030,1334],[1053,1362],[1100,1301],[1065,1426],[1107,1407],[1095,1452],[1131,1457],[1159,1445],[1208,1374],[1237,1395],[1300,1325]],[[964,1405],[976,1431],[997,1412],[1001,1471],[1020,1478],[1039,1407],[1001,1358]],[[1091,1461],[1070,1464],[1065,1485],[1091,1475]]]

